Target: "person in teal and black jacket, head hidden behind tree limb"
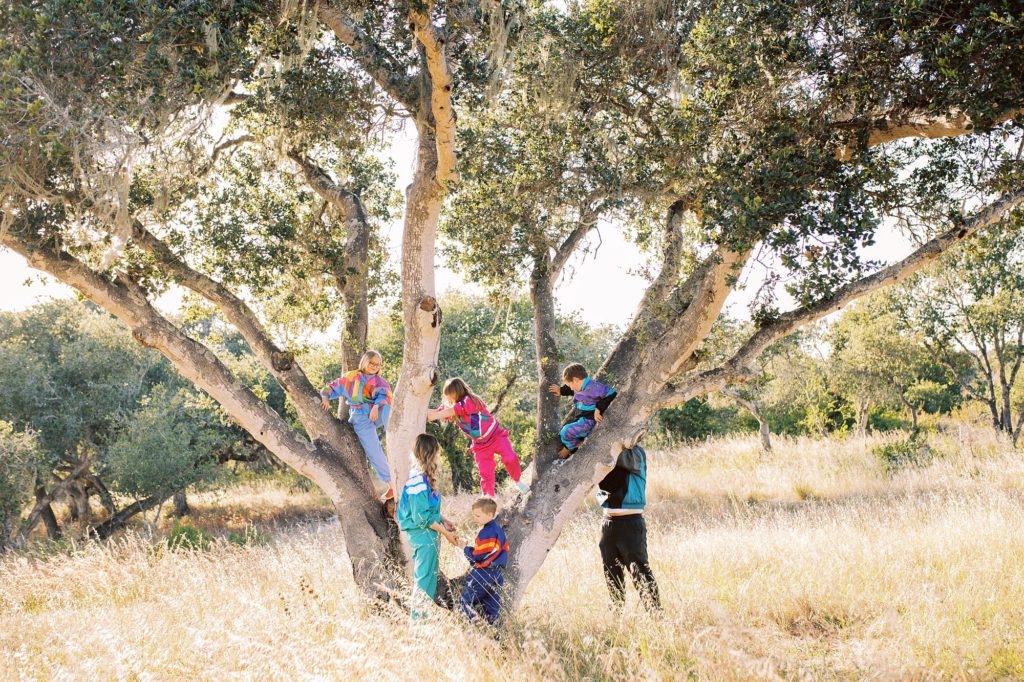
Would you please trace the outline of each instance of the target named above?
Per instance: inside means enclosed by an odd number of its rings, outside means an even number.
[[[601,562],[611,601],[626,601],[626,569],[648,610],[662,607],[654,573],[647,562],[647,454],[640,445],[618,454],[614,468],[598,483],[597,501],[604,509],[601,524]]]

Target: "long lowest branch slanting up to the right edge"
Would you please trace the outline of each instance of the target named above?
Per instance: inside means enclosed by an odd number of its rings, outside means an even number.
[[[964,223],[946,230],[926,242],[903,260],[884,267],[878,272],[841,287],[835,294],[812,305],[783,313],[763,326],[736,353],[721,367],[702,372],[674,385],[667,385],[657,399],[660,408],[670,408],[686,402],[691,397],[714,390],[721,390],[730,382],[744,381],[758,356],[775,341],[788,336],[797,329],[809,325],[847,303],[883,287],[898,284],[934,261],[950,248],[976,233],[978,230],[998,222],[1009,211],[1024,204],[1024,189],[1009,195],[990,206],[977,211]]]

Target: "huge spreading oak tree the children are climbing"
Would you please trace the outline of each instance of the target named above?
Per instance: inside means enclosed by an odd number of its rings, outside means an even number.
[[[553,281],[551,263],[573,246],[573,221],[565,218],[586,225],[595,209],[581,196],[613,199],[598,207],[602,213],[629,203],[642,209],[633,217],[664,218],[640,221],[657,246],[650,286],[599,370],[618,389],[614,409],[569,461],[542,467],[532,492],[507,515],[519,596],[593,481],[655,411],[742,381],[774,341],[907,278],[1024,201],[1018,160],[971,210],[934,217],[905,258],[885,266],[860,258],[902,203],[898,193],[927,198],[940,190],[899,182],[908,168],[932,160],[929,143],[901,140],[1019,139],[1022,18],[1009,0],[983,10],[938,1],[604,0],[567,11],[496,0],[17,0],[0,9],[2,243],[121,318],[321,485],[337,507],[356,582],[376,592],[393,572],[385,562],[387,523],[361,452],[351,430],[318,409],[313,382],[269,331],[253,288],[229,286],[204,267],[201,254],[182,248],[185,235],[208,228],[190,210],[191,198],[203,183],[217,186],[218,163],[230,156],[224,152],[256,143],[280,163],[268,160],[250,181],[301,173],[335,211],[343,251],[355,249],[348,238],[360,222],[351,200],[360,195],[351,182],[358,174],[338,172],[351,164],[334,160],[365,155],[382,125],[415,131],[399,272],[403,358],[388,429],[400,482],[437,379],[442,315],[434,244],[445,199],[460,191],[457,109],[468,130],[482,129],[497,112],[519,140],[550,135],[558,125],[569,140],[584,135],[580,147],[559,146],[564,158],[546,162],[557,161],[558,179],[571,191],[538,184],[540,203],[498,225],[552,215],[564,227],[499,230],[500,244],[531,240],[514,253],[532,266],[508,262],[510,269],[543,274],[547,267]],[[524,80],[529,59],[538,79],[552,79],[536,90]],[[536,101],[503,118],[510,98],[535,92]],[[223,129],[225,109],[233,117],[227,128],[237,125],[240,135],[211,139]],[[256,114],[265,123],[253,126]],[[247,135],[256,139],[243,141]],[[608,164],[615,172],[597,172]],[[473,186],[481,178],[493,182],[483,195]],[[468,175],[464,191],[490,193],[500,206],[517,197],[516,173],[502,179]],[[312,217],[296,210],[291,222],[316,232],[321,221]],[[309,262],[288,258],[304,242],[300,235],[274,242],[284,250],[273,261],[282,280],[295,263]],[[702,342],[756,261],[772,270],[754,332],[707,367]],[[366,276],[354,266],[345,272]],[[287,392],[301,430],[154,307],[168,282],[207,299],[236,326]],[[777,284],[788,288],[792,309],[778,309]],[[549,422],[539,422],[542,441]]]

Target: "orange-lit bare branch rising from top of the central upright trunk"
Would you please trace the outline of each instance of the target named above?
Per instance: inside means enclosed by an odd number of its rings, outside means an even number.
[[[444,51],[444,38],[430,22],[429,8],[409,14],[413,35],[423,46],[430,75],[430,113],[433,118],[434,141],[437,146],[437,168],[434,182],[441,195],[451,183],[458,181],[455,156],[455,110],[452,108],[452,71]],[[421,113],[422,114],[422,113]]]

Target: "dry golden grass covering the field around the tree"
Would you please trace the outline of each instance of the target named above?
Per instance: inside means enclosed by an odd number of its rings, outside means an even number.
[[[932,464],[889,476],[870,450],[884,439],[651,453],[665,610],[632,591],[609,609],[588,508],[501,641],[449,614],[370,612],[330,521],[255,547],[130,537],[8,556],[0,679],[1024,677],[1024,458],[953,427],[932,436]],[[453,514],[470,500],[450,500]],[[442,565],[461,569],[451,548]]]

